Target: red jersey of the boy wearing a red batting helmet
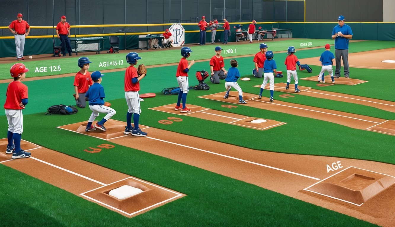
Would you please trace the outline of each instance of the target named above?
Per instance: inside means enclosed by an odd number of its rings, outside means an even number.
[[[20,81],[13,81],[8,84],[6,96],[4,109],[22,110],[23,108],[19,104],[22,102],[22,99],[28,98],[27,86]]]

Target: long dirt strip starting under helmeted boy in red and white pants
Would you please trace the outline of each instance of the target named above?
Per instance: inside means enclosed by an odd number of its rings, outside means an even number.
[[[323,84],[319,84],[323,85]],[[328,84],[332,85],[332,84]],[[372,99],[372,98],[367,98],[367,97],[361,97],[357,95],[347,95],[347,94],[342,94],[342,93],[337,93],[337,92],[331,92],[331,91],[322,91],[322,90],[317,90],[317,89],[312,89],[311,87],[305,87],[305,86],[298,86],[298,88],[301,90],[301,92],[295,94],[295,85],[290,84],[290,88],[288,90],[285,89],[286,83],[277,83],[274,85],[275,91],[282,91],[282,92],[287,92],[287,93],[292,93],[294,95],[305,95],[305,96],[310,96],[310,97],[315,97],[315,98],[320,98],[320,99],[330,99],[330,100],[336,100],[340,102],[350,102],[350,103],[355,103],[355,104],[360,104],[364,106],[371,106],[380,110],[386,110],[389,112],[395,112],[395,102],[391,101],[386,101],[386,100],[381,100],[381,99]],[[256,85],[254,87],[261,87],[260,85]],[[265,87],[265,89],[269,89],[269,85]],[[285,96],[285,97],[290,97],[290,96]]]

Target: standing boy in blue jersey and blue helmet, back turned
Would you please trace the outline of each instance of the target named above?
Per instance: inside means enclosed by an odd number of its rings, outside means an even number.
[[[277,74],[277,65],[276,61],[273,60],[274,54],[273,51],[267,51],[265,63],[263,63],[263,83],[261,85],[261,90],[258,95],[258,99],[262,99],[262,92],[267,84],[267,80],[269,80],[270,85],[270,101],[273,102],[273,93],[274,93],[274,75]]]

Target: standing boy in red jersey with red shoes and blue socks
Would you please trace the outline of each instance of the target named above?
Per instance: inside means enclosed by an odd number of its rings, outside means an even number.
[[[186,95],[188,95],[188,72],[189,69],[192,67],[193,64],[195,64],[195,61],[192,60],[191,63],[188,65],[188,58],[190,56],[190,53],[192,52],[191,48],[189,47],[182,47],[181,48],[181,55],[182,58],[180,60],[180,63],[178,64],[177,67],[177,83],[178,86],[180,86],[180,93],[178,93],[178,99],[177,99],[177,104],[174,108],[174,110],[181,110],[181,113],[186,113],[186,112],[191,112],[191,110],[186,107]],[[181,100],[182,100],[182,106],[181,106]]]

